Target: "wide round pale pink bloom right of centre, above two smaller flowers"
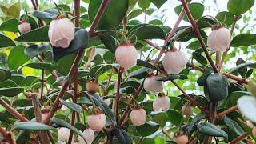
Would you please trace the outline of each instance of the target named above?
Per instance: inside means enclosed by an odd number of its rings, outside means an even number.
[[[178,74],[186,68],[188,59],[182,51],[168,51],[162,59],[163,68],[168,74]]]

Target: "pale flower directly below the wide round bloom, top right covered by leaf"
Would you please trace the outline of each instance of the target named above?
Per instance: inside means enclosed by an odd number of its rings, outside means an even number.
[[[163,86],[161,81],[157,81],[155,78],[157,78],[154,75],[150,75],[150,77],[147,77],[143,83],[143,87],[146,90],[146,92],[151,93],[159,93],[163,91]]]

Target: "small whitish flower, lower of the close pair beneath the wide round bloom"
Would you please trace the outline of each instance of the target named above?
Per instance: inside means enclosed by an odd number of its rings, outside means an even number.
[[[154,111],[167,111],[170,108],[170,98],[165,96],[159,96],[153,102]]]

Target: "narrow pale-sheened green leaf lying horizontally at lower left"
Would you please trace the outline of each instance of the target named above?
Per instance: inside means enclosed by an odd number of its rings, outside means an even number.
[[[55,130],[54,127],[39,122],[15,122],[13,130]]]

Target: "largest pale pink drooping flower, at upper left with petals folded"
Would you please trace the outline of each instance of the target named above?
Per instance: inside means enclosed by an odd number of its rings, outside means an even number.
[[[52,46],[67,48],[74,39],[74,24],[68,18],[52,20],[48,37]]]

